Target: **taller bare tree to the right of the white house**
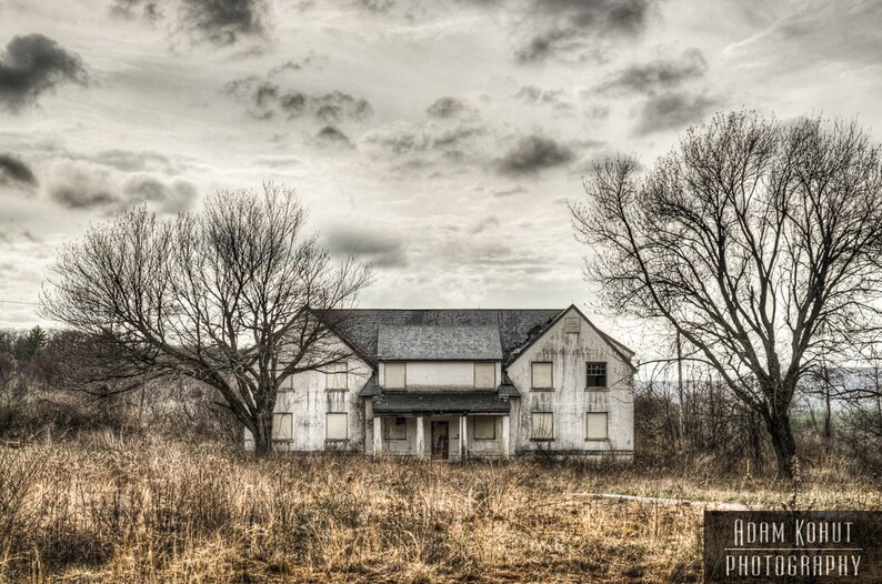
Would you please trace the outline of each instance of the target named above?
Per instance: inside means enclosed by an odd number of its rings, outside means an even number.
[[[718,114],[644,175],[608,160],[571,204],[614,311],[662,319],[755,411],[792,475],[790,409],[821,355],[876,325],[880,149],[854,123]]]

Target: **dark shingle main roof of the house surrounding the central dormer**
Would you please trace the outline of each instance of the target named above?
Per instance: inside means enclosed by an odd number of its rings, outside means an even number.
[[[381,326],[492,326],[499,331],[502,360],[525,345],[560,310],[342,310],[339,332],[372,362],[378,361]]]

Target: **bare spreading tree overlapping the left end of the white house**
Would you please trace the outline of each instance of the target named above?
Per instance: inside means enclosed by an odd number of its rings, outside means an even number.
[[[186,375],[220,393],[272,447],[281,383],[351,352],[333,333],[372,270],[334,265],[294,193],[221,191],[201,214],[161,221],[144,208],[91,229],[59,256],[43,313],[141,371]]]

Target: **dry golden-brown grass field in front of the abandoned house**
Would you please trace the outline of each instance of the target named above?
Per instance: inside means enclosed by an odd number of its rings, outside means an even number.
[[[111,434],[0,449],[0,581],[698,582],[700,507],[585,493],[882,509],[845,466],[796,492],[701,466],[252,460]]]

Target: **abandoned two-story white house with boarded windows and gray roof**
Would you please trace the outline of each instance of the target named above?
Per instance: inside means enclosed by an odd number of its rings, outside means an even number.
[[[284,383],[277,450],[633,455],[633,352],[575,306],[344,312],[351,356]]]

